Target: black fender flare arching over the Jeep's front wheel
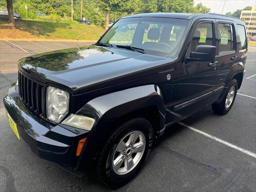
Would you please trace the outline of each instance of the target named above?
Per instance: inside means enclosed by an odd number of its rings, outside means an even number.
[[[88,161],[88,156],[96,158],[118,118],[149,106],[156,106],[159,112],[159,127],[156,130],[158,135],[155,135],[159,137],[160,130],[163,130],[165,126],[165,108],[161,90],[156,85],[144,85],[112,92],[86,103],[76,114],[94,118],[95,124],[86,140],[75,170],[85,170],[84,164],[92,163]],[[80,162],[83,163],[80,164]]]

